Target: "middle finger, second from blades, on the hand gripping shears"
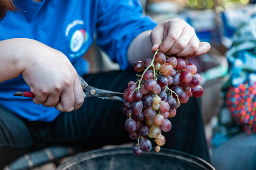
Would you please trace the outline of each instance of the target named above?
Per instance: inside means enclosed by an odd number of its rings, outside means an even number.
[[[68,83],[66,87],[67,88],[65,88],[61,93],[61,102],[58,102],[55,108],[60,111],[69,112],[74,110],[75,98],[74,98],[73,83]]]

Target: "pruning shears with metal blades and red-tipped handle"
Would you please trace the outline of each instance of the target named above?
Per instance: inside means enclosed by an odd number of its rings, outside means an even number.
[[[116,100],[116,101],[123,101],[123,93],[119,92],[112,92],[109,90],[103,90],[103,89],[98,89],[95,87],[92,87],[86,83],[86,81],[79,76],[80,83],[82,85],[82,90],[83,90],[83,96],[84,98],[87,97],[98,97],[101,99],[109,99],[109,100]],[[35,94],[32,92],[16,92],[13,94],[14,96],[23,96],[23,97],[31,97],[34,98]]]

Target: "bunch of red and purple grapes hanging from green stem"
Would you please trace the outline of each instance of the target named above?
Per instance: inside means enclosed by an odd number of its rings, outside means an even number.
[[[152,149],[147,137],[155,138],[155,151],[160,151],[160,146],[165,144],[161,133],[172,127],[168,118],[176,115],[181,103],[188,102],[192,95],[200,97],[203,90],[196,66],[187,63],[184,57],[168,57],[157,50],[153,59],[136,61],[133,68],[143,73],[128,83],[123,93],[122,111],[127,116],[125,128],[129,137],[137,140],[132,150],[136,156],[141,156],[142,151]]]

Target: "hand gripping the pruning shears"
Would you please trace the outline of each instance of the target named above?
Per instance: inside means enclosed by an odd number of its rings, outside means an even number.
[[[36,96],[33,102],[60,111],[79,109],[84,101],[82,85],[69,59],[35,40],[25,40],[21,48],[21,73]]]

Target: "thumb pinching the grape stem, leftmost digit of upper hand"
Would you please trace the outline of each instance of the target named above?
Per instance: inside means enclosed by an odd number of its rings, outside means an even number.
[[[152,46],[152,52],[155,52],[161,42],[163,41],[163,34],[164,34],[164,28],[162,26],[156,26],[152,32],[151,32],[151,35],[150,35],[150,38],[151,38],[151,42],[153,44]]]

